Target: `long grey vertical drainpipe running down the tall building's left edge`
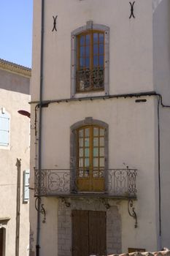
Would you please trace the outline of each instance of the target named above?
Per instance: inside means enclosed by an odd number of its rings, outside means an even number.
[[[45,1],[42,0],[41,16],[41,52],[40,52],[40,84],[39,84],[39,151],[38,151],[38,198],[37,198],[37,223],[36,223],[36,256],[39,256],[39,236],[40,236],[40,185],[41,185],[41,168],[42,168],[42,86],[43,86],[43,53],[44,53],[44,7]]]

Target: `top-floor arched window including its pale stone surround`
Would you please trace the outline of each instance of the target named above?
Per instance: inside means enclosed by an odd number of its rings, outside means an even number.
[[[72,32],[71,97],[97,91],[109,94],[109,28],[90,20]]]

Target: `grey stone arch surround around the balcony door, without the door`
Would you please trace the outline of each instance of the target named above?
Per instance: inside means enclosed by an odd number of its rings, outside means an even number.
[[[77,141],[76,141],[76,130],[80,127],[85,125],[98,125],[104,128],[104,164],[105,164],[105,173],[104,173],[104,182],[105,182],[105,189],[107,191],[108,187],[108,176],[107,176],[107,169],[108,169],[108,162],[109,162],[109,154],[108,154],[108,147],[109,147],[109,125],[104,121],[100,121],[97,119],[93,119],[92,117],[86,117],[84,120],[77,121],[75,124],[72,124],[70,127],[70,168],[72,173],[70,175],[71,181],[71,191],[74,191],[74,178],[76,177],[76,165],[77,165]]]

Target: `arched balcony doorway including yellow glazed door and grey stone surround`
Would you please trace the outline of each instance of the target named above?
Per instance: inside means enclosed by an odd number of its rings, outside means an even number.
[[[86,118],[72,127],[71,163],[78,191],[104,192],[108,160],[108,126]]]

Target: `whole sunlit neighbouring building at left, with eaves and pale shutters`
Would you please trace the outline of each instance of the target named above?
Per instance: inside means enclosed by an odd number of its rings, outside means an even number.
[[[0,59],[0,255],[28,255],[31,69]]]

